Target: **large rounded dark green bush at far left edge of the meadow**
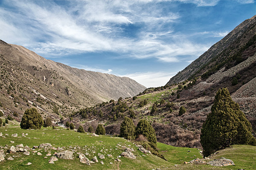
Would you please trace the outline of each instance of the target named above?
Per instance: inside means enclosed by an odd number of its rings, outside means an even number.
[[[27,109],[20,122],[21,129],[40,129],[44,122],[35,108]]]

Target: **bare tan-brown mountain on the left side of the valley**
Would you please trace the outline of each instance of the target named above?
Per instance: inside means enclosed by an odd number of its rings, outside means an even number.
[[[2,40],[0,72],[1,110],[11,115],[32,105],[47,114],[68,115],[75,109],[145,90],[128,77],[72,68]]]

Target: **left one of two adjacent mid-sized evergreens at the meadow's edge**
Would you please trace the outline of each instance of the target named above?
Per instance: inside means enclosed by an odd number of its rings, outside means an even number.
[[[120,125],[120,137],[125,139],[135,139],[135,125],[132,119],[125,117]]]

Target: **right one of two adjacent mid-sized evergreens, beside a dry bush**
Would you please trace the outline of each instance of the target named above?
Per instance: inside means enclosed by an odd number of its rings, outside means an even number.
[[[145,119],[141,119],[136,127],[136,137],[139,135],[145,136],[148,139],[148,142],[153,144],[157,143],[156,133],[154,128],[146,121]]]

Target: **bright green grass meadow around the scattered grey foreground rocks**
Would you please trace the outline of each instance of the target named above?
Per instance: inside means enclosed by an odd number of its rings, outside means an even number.
[[[66,130],[58,127],[56,130],[52,128],[44,128],[41,130],[23,130],[19,127],[0,127],[0,132],[3,133],[5,138],[0,137],[0,146],[4,147],[6,144],[8,148],[12,145],[23,144],[28,145],[32,148],[34,145],[39,145],[41,143],[51,143],[54,147],[65,147],[65,150],[73,150],[73,160],[58,159],[55,164],[49,164],[49,157],[44,159],[47,153],[52,155],[56,150],[39,150],[43,155],[38,156],[36,153],[33,154],[30,151],[30,155],[26,156],[23,153],[10,153],[6,154],[5,161],[0,162],[1,170],[113,170],[113,164],[115,164],[114,159],[116,159],[120,153],[124,151],[122,147],[134,148],[134,155],[137,159],[128,159],[121,157],[120,170],[151,170],[151,169],[164,169],[164,170],[230,170],[230,169],[246,169],[255,170],[256,169],[256,147],[247,145],[234,145],[225,150],[218,151],[219,153],[213,156],[211,159],[219,159],[225,157],[234,161],[236,166],[228,167],[212,167],[210,165],[191,165],[184,164],[184,161],[191,161],[195,158],[202,158],[198,149],[187,148],[187,147],[173,147],[167,144],[157,143],[157,148],[161,154],[166,158],[167,161],[160,159],[154,155],[145,155],[140,152],[135,145],[125,139],[113,137],[113,136],[91,136],[90,133],[77,133],[73,130]],[[18,137],[12,137],[12,134],[17,133]],[[21,133],[28,133],[27,137],[20,137]],[[6,134],[9,134],[8,136]],[[36,138],[36,139],[34,139]],[[14,141],[15,143],[11,143]],[[117,146],[117,144],[121,144]],[[76,147],[76,149],[74,148]],[[4,149],[5,151],[7,149]],[[188,152],[191,151],[191,152]],[[93,153],[95,151],[95,153]],[[58,151],[57,151],[58,152]],[[77,152],[89,153],[88,159],[92,159],[93,156],[98,157],[98,153],[104,154],[105,159],[102,159],[104,165],[100,163],[94,163],[90,166],[82,164],[79,161]],[[111,154],[113,158],[107,155]],[[195,156],[194,156],[195,155]],[[7,160],[9,156],[16,156],[14,160]],[[98,160],[101,161],[98,157]],[[26,165],[31,162],[31,165]],[[112,162],[113,164],[111,164]],[[174,166],[177,164],[177,166]],[[117,168],[116,168],[117,169]]]

